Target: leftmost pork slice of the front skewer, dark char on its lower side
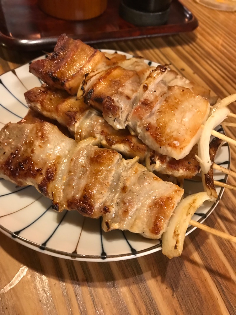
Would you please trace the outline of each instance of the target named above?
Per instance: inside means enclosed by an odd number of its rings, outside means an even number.
[[[52,126],[40,121],[6,124],[0,132],[0,176],[18,186],[35,186],[64,209],[63,176],[75,144]]]

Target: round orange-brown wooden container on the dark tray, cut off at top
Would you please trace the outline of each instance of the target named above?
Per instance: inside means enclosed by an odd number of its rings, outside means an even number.
[[[88,20],[102,14],[107,0],[38,0],[45,13],[63,20]]]

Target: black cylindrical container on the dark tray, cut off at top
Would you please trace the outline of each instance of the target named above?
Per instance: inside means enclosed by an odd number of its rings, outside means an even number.
[[[167,23],[171,0],[122,0],[121,17],[136,26]]]

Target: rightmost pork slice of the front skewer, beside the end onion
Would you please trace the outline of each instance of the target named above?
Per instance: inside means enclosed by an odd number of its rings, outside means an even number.
[[[102,227],[105,231],[119,228],[147,238],[160,238],[170,219],[170,209],[176,207],[183,190],[161,180],[134,160],[124,163],[120,193],[115,207],[108,206],[110,212],[104,217]]]

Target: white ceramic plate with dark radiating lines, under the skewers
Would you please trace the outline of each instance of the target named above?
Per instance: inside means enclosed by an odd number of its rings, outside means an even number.
[[[113,50],[106,51],[114,53]],[[149,60],[146,62],[157,66]],[[29,73],[29,64],[0,76],[0,126],[10,121],[18,122],[26,115],[28,107],[24,92],[40,85],[40,80]],[[219,129],[223,132],[222,128]],[[224,145],[215,162],[229,168],[229,160],[229,148]],[[226,181],[226,176],[218,172],[215,179]],[[186,181],[184,188],[187,194],[202,191],[199,182]],[[217,188],[217,202],[205,202],[193,219],[203,222],[216,207],[222,192],[222,188]],[[161,249],[159,240],[120,230],[105,233],[101,230],[100,220],[84,218],[76,211],[58,213],[51,208],[51,201],[35,188],[16,187],[3,179],[0,180],[0,230],[37,251],[81,261],[130,259]],[[189,227],[187,234],[193,230]]]

